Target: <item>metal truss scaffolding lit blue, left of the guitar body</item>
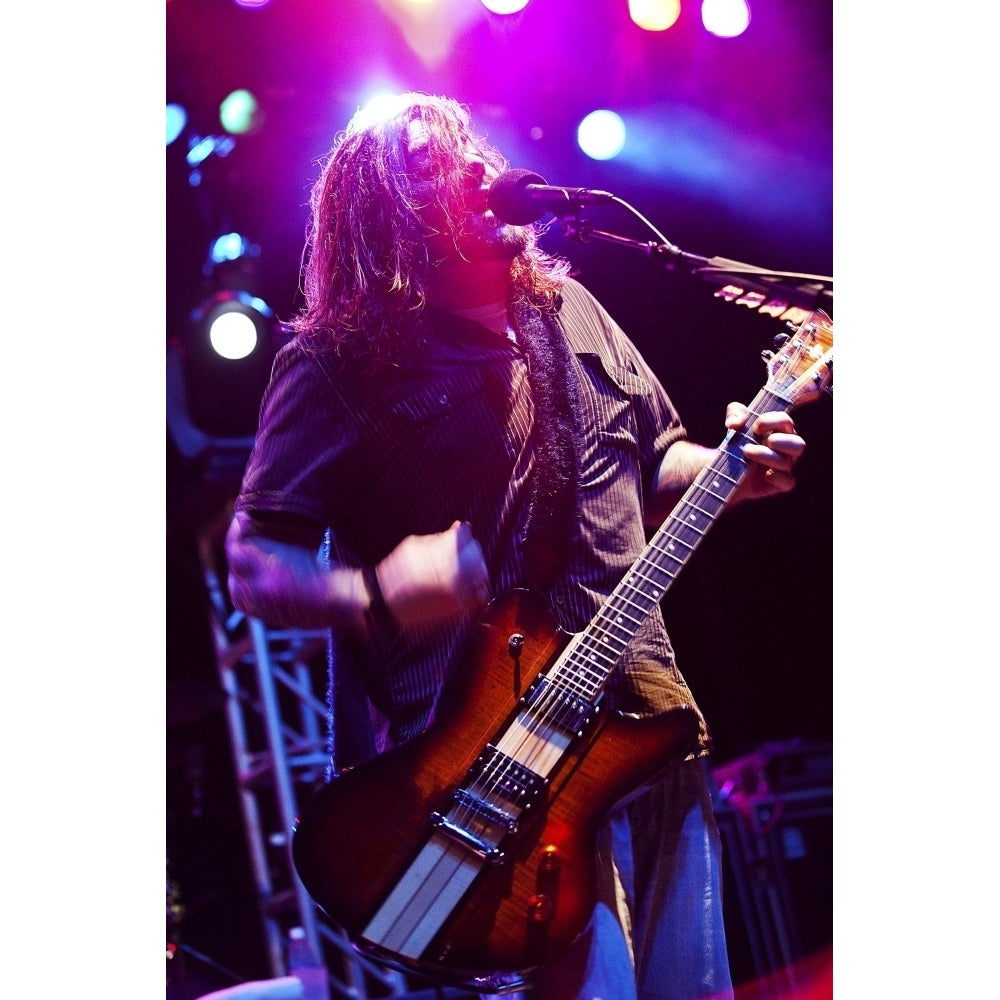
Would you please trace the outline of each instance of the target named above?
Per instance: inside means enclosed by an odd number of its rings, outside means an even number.
[[[325,780],[329,762],[326,634],[270,629],[233,607],[224,551],[229,513],[202,529],[198,548],[270,971],[293,971],[288,945],[301,927],[326,969],[324,997],[399,996],[408,991],[405,977],[358,955],[296,874],[291,839],[299,805]]]

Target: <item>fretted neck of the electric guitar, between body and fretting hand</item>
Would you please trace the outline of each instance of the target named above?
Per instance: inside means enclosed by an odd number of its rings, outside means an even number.
[[[787,410],[780,396],[762,389],[750,404],[747,426],[762,413]],[[574,636],[550,682],[592,702],[645,620],[663,600],[747,472],[743,445],[753,438],[730,431],[601,610]]]

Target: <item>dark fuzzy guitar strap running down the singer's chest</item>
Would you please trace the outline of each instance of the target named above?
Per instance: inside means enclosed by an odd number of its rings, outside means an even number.
[[[578,523],[577,415],[580,383],[566,335],[553,313],[527,303],[508,308],[528,359],[535,407],[534,468],[528,484],[524,554],[529,582],[545,593],[565,566]]]

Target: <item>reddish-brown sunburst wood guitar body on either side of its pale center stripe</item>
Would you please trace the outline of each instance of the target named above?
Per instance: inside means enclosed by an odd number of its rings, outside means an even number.
[[[308,803],[293,839],[296,870],[359,950],[444,981],[470,981],[530,970],[582,932],[596,902],[598,830],[617,803],[689,750],[697,732],[691,709],[648,719],[600,710],[540,801],[518,817],[502,859],[482,862],[419,956],[366,949],[363,934],[428,840],[432,815],[447,810],[568,639],[534,594],[498,599],[477,626],[460,685],[435,725],[345,772]]]

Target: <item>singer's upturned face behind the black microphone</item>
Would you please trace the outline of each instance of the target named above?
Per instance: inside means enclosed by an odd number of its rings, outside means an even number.
[[[527,235],[522,227],[505,225],[489,211],[487,196],[498,176],[496,168],[466,138],[459,151],[461,173],[448,185],[443,182],[446,168],[435,162],[432,149],[424,123],[410,122],[407,166],[417,192],[426,189],[420,218],[427,229],[431,260],[513,260],[527,246]]]

